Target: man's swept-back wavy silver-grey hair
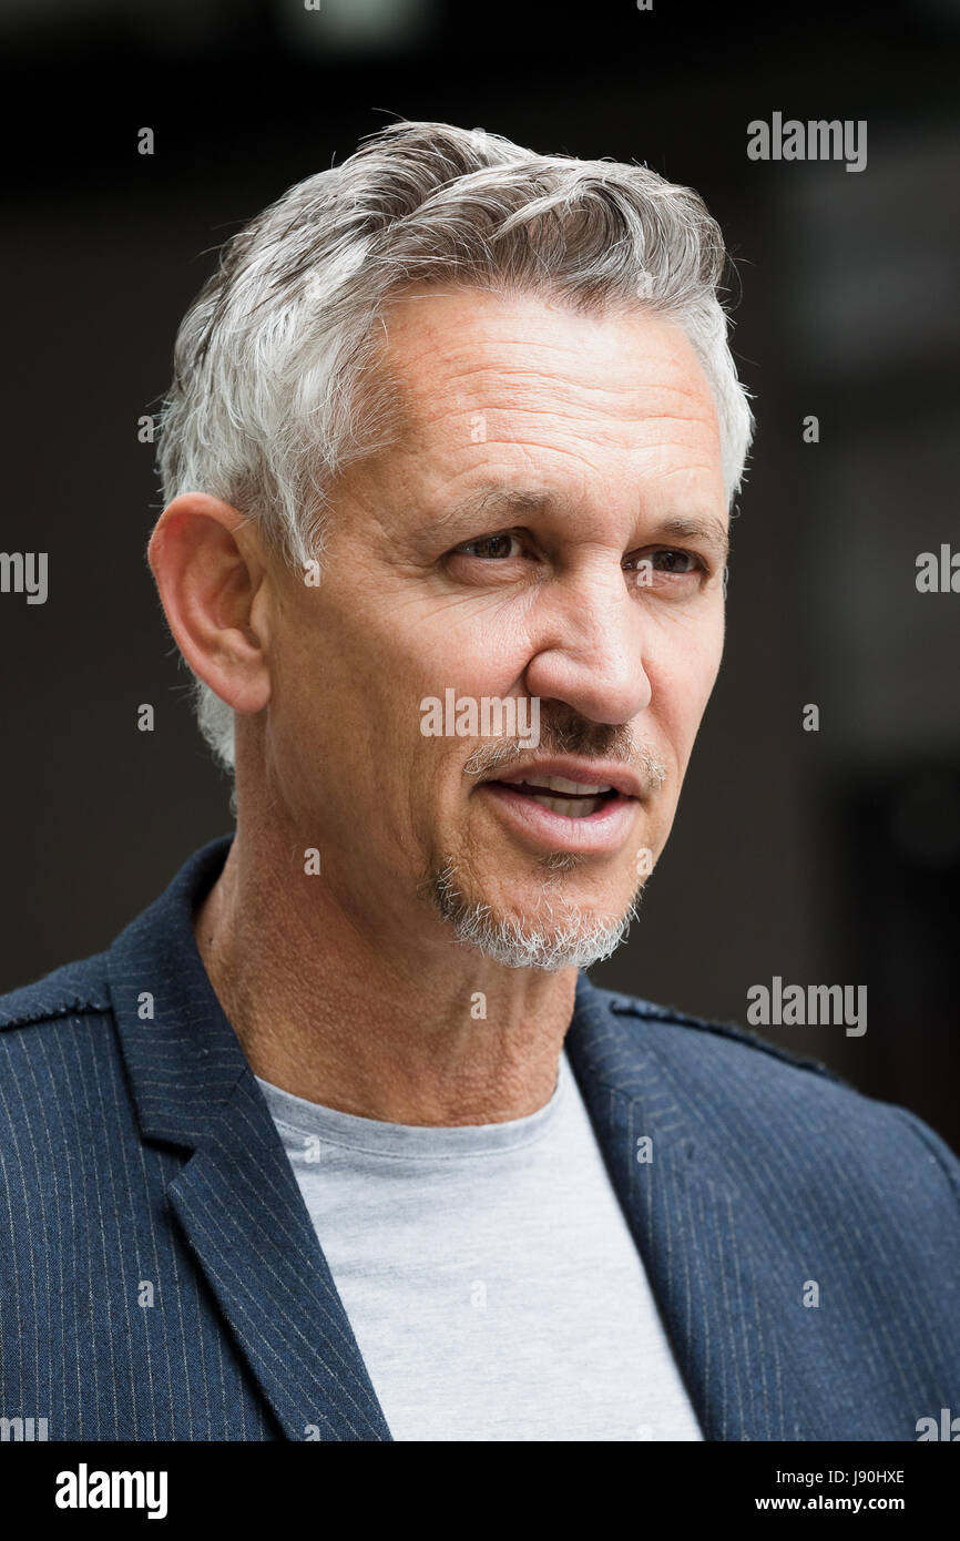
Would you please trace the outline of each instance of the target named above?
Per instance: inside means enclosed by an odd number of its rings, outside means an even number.
[[[692,188],[616,160],[538,156],[499,134],[396,122],[234,234],[180,325],[160,415],[166,502],[205,492],[290,566],[319,559],[336,478],[396,438],[376,368],[413,282],[550,291],[584,311],[646,307],[687,334],[713,393],[727,498],[754,419],[720,300],[723,234]],[[197,681],[227,767],[234,713]]]

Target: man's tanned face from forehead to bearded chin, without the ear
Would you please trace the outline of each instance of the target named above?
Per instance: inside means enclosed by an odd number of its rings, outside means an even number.
[[[639,308],[416,288],[387,334],[404,433],[345,475],[319,587],[273,576],[268,795],[367,934],[584,963],[667,840],[720,667],[710,390]],[[539,744],[444,732],[484,698],[538,698]]]

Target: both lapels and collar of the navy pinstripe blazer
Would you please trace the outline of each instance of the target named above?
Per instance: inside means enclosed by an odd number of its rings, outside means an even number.
[[[231,837],[196,852],[111,948],[109,988],[143,1136],[191,1153],[168,1190],[186,1241],[290,1439],[391,1439],[267,1102],[206,975],[193,911]],[[797,1439],[784,1281],[743,1245],[749,1196],[676,1093],[644,1003],[576,983],[567,1054],[707,1439]],[[638,1020],[639,1019],[639,1020]],[[687,1040],[689,1043],[689,1040]],[[638,1160],[652,1137],[653,1160]],[[755,1230],[750,1230],[755,1234]],[[792,1281],[790,1281],[792,1282]],[[817,1408],[806,1408],[817,1425]]]

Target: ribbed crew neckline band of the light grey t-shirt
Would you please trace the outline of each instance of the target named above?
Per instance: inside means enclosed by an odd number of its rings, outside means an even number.
[[[532,1145],[542,1139],[553,1125],[566,1102],[572,1076],[566,1051],[561,1051],[553,1094],[536,1113],[505,1123],[384,1123],[381,1119],[362,1119],[354,1113],[341,1113],[256,1077],[267,1099],[274,1123],[296,1134],[319,1139],[328,1145],[367,1151],[373,1156],[405,1156],[436,1160],[438,1156],[496,1156]]]

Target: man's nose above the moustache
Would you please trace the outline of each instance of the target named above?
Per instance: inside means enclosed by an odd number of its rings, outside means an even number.
[[[619,564],[558,579],[538,599],[530,695],[566,701],[595,723],[624,724],[650,704],[644,606]]]

